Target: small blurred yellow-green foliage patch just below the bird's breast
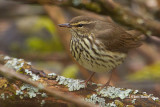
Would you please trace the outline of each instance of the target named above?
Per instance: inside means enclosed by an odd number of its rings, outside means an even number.
[[[78,67],[76,65],[70,65],[64,69],[62,76],[66,78],[76,78],[77,73]]]

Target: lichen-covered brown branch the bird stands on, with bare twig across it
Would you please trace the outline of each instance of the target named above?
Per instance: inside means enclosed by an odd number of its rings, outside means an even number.
[[[32,102],[33,105],[39,104],[39,106],[42,102],[46,102],[47,106],[55,102],[77,106],[95,106],[93,104],[118,107],[160,106],[159,98],[138,90],[107,87],[98,92],[101,84],[91,83],[85,88],[81,83],[83,80],[65,78],[55,73],[47,74],[47,72],[46,76],[39,77],[30,71],[31,63],[23,59],[1,55],[0,62],[0,74],[4,76],[1,77],[0,83],[0,105],[8,102],[18,105],[25,101]]]

